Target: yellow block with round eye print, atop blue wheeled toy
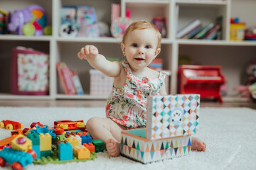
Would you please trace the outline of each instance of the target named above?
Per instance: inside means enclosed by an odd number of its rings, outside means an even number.
[[[32,149],[32,141],[29,140],[28,137],[19,134],[14,137],[14,140],[11,141],[11,148],[23,152],[28,152],[28,150]]]

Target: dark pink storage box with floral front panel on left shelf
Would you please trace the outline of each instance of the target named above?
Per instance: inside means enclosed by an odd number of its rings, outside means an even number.
[[[48,55],[26,47],[11,54],[11,94],[48,94]]]

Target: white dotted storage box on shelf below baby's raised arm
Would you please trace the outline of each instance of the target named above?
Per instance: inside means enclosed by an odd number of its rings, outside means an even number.
[[[113,86],[114,78],[107,77],[97,69],[90,69],[90,95],[108,96]]]

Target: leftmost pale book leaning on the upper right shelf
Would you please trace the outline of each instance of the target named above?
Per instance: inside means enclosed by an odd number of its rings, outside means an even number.
[[[191,21],[186,26],[178,30],[176,38],[183,38],[183,36],[187,35],[188,33],[191,33],[193,30],[195,30],[199,26],[201,26],[201,21],[199,19],[195,19]]]

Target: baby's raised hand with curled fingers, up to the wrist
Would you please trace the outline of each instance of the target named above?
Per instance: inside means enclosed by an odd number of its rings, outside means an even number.
[[[78,52],[78,58],[80,58],[80,60],[91,60],[95,59],[98,54],[99,51],[97,50],[97,47],[94,45],[85,45],[85,47],[82,47],[80,52]]]

